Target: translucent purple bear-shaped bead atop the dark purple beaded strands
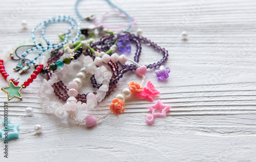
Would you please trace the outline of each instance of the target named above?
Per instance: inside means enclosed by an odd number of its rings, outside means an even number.
[[[117,34],[117,51],[120,54],[127,54],[131,52],[131,41],[129,40],[129,33]]]

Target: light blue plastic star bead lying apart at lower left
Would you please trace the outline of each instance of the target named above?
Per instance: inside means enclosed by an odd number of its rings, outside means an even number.
[[[0,136],[2,137],[2,140],[9,141],[11,139],[18,138],[19,136],[18,128],[19,128],[18,124],[10,125],[8,121],[8,126],[5,126],[4,128],[0,129]]]

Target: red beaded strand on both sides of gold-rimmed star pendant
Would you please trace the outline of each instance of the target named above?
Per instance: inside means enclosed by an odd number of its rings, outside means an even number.
[[[30,76],[30,78],[28,78],[28,80],[25,81],[23,83],[23,85],[25,87],[29,86],[29,84],[32,83],[33,80],[36,79],[36,76],[42,71],[42,68],[44,68],[44,65],[39,64],[36,67],[35,71],[32,73],[32,75]],[[0,59],[0,73],[5,78],[5,80],[7,80],[7,77],[9,77],[9,74],[7,74],[6,71],[5,71],[4,60],[1,60],[1,59]],[[13,81],[13,84],[16,85],[16,86],[19,83],[17,80],[14,81],[13,78],[11,78],[10,80]],[[7,80],[7,81],[9,81],[9,80]]]

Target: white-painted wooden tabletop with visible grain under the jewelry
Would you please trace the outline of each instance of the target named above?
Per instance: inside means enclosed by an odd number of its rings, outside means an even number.
[[[31,29],[40,21],[57,14],[77,17],[74,1],[2,0],[0,10],[0,48],[30,38]],[[256,161],[256,2],[248,1],[117,1],[119,7],[136,17],[143,36],[169,51],[166,66],[170,77],[158,81],[154,70],[147,80],[161,94],[154,99],[172,106],[167,118],[145,123],[152,102],[130,99],[125,112],[110,115],[96,127],[72,124],[40,109],[36,91],[44,76],[24,90],[22,101],[11,100],[9,117],[20,125],[20,137],[8,144],[4,158],[0,142],[0,161]],[[112,8],[104,1],[83,1],[83,15],[99,18]],[[21,21],[28,21],[22,30]],[[110,17],[105,23],[118,25],[123,17]],[[82,26],[88,24],[82,22]],[[58,42],[57,35],[67,24],[51,25],[47,36]],[[181,40],[187,31],[188,40]],[[160,60],[162,55],[142,46],[141,64]],[[134,49],[134,47],[133,47]],[[131,58],[132,58],[131,54]],[[11,71],[14,64],[8,64]],[[28,76],[28,75],[27,75]],[[25,76],[20,76],[24,81]],[[113,94],[92,113],[103,114],[115,94],[126,83],[139,78],[125,74]],[[7,82],[1,78],[1,87]],[[67,83],[67,82],[66,82]],[[6,94],[0,92],[0,116],[3,117]],[[33,117],[25,114],[34,107]],[[41,135],[33,127],[41,124]],[[2,128],[2,126],[1,126]]]

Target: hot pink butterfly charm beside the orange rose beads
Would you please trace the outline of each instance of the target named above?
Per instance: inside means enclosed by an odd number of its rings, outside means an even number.
[[[159,95],[160,92],[157,91],[154,87],[154,85],[151,83],[151,81],[147,82],[146,87],[144,87],[140,92],[137,92],[137,95],[142,97],[142,98],[147,98],[150,99],[150,101],[153,102],[153,97],[155,95]]]

